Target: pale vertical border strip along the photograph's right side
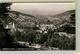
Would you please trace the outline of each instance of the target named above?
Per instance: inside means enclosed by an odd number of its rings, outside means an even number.
[[[80,51],[80,0],[76,1],[76,50]]]

